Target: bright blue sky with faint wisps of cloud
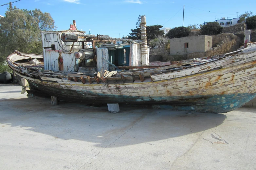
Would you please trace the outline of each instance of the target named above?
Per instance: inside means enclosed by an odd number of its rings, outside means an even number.
[[[0,5],[11,0],[1,0]],[[12,0],[16,1],[16,0]],[[238,0],[21,0],[13,4],[20,9],[40,9],[51,14],[58,30],[69,29],[72,20],[77,28],[92,34],[119,37],[128,35],[135,28],[138,15],[146,14],[147,25],[164,27],[182,26],[183,5],[185,5],[184,26],[204,21],[215,21],[221,17],[235,18],[250,10],[255,14],[254,1]],[[8,6],[0,7],[5,16]]]

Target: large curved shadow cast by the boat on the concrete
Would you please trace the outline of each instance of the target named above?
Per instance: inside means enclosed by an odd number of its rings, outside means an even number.
[[[110,148],[199,135],[227,118],[224,114],[188,114],[186,111],[129,105],[120,105],[120,113],[111,114],[107,106],[94,108],[69,102],[51,106],[50,99],[45,98],[5,99],[1,102],[0,123],[4,126]]]

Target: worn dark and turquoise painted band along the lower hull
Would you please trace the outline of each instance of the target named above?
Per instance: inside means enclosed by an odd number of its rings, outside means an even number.
[[[239,108],[252,100],[255,93],[219,94],[219,95],[192,95],[192,96],[128,96],[113,95],[81,90],[63,90],[60,88],[45,88],[40,85],[29,83],[32,89],[40,88],[49,95],[57,96],[69,101],[84,101],[85,103],[120,103],[120,104],[145,104],[155,105],[156,108],[171,110],[186,110],[210,113],[226,113]],[[48,90],[47,90],[48,89]],[[94,98],[92,100],[92,98]]]

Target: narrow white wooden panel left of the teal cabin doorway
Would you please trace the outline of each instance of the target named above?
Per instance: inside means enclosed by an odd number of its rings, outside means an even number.
[[[97,48],[96,52],[98,71],[101,71],[101,69],[108,70],[108,63],[103,60],[104,58],[108,61],[108,48]]]

